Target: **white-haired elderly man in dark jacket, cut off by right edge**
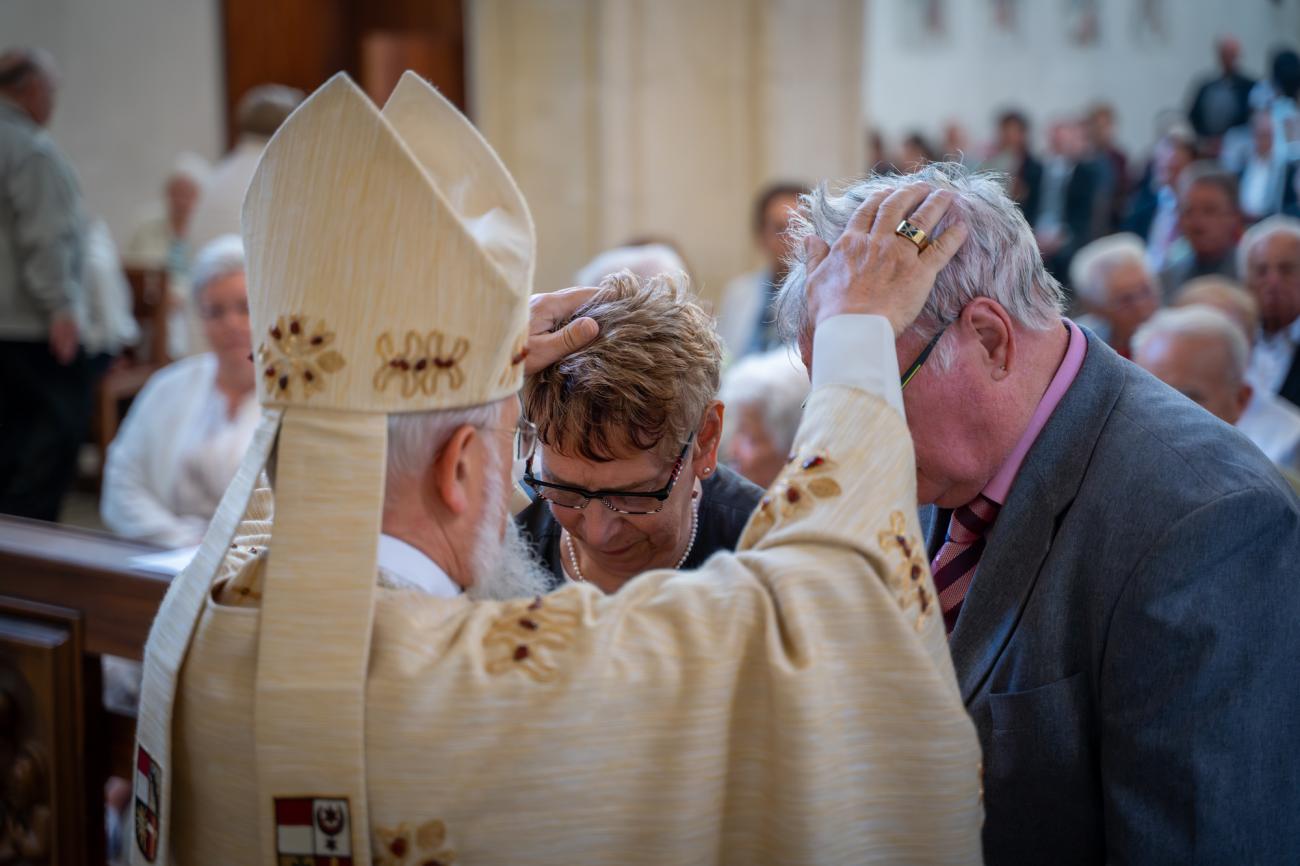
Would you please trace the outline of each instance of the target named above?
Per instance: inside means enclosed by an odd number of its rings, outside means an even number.
[[[1239,256],[1260,303],[1251,384],[1300,406],[1300,220],[1275,216],[1251,226]]]

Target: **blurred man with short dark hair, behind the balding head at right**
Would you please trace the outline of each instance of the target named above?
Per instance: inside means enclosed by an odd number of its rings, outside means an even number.
[[[1236,242],[1242,239],[1236,178],[1217,163],[1193,163],[1178,181],[1178,229],[1183,243],[1170,250],[1160,269],[1167,302],[1183,283],[1217,273],[1236,278]]]

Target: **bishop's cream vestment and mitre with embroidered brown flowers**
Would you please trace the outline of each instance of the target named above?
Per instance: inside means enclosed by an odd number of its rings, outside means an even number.
[[[150,637],[133,862],[979,861],[896,403],[818,386],[699,571],[386,589],[385,413],[517,389],[523,198],[413,75],[382,116],[338,77],[269,144],[244,229],[264,423]]]

